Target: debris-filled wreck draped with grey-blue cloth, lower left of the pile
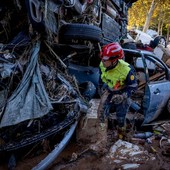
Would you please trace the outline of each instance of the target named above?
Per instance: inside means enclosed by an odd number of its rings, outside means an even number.
[[[88,108],[75,78],[47,49],[42,55],[40,41],[23,33],[12,42],[0,54],[0,163],[42,140],[59,142],[55,136],[61,139]]]

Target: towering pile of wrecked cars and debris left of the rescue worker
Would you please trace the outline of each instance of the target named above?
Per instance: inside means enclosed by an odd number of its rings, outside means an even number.
[[[97,66],[100,46],[126,36],[131,5],[100,0],[0,3],[0,152],[55,135],[86,112],[96,87],[68,74],[68,61],[75,57],[73,63]]]

